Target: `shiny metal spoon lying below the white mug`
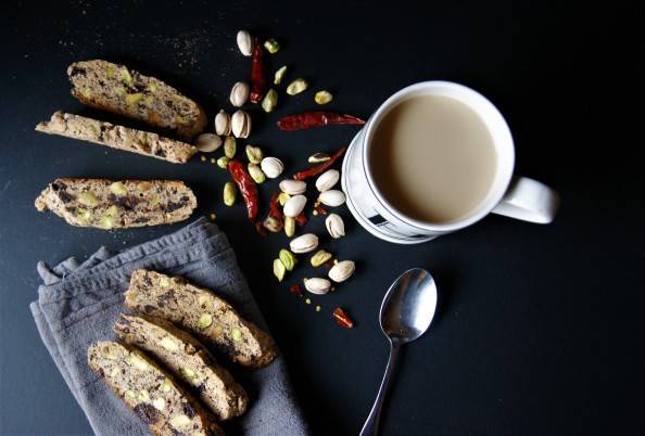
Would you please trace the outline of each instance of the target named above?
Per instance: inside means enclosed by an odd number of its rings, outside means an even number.
[[[381,330],[390,341],[390,360],[379,394],[371,407],[361,436],[377,435],[381,406],[394,373],[401,345],[417,339],[430,326],[437,308],[437,285],[430,272],[421,268],[405,271],[388,290],[381,304]]]

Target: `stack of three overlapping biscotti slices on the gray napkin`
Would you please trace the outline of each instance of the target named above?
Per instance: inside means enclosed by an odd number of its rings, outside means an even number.
[[[179,277],[136,270],[125,297],[124,306],[139,315],[122,315],[114,324],[124,344],[91,346],[88,362],[153,434],[218,434],[215,421],[246,410],[246,393],[211,351],[258,369],[277,354],[267,333]],[[168,407],[177,401],[193,413]]]

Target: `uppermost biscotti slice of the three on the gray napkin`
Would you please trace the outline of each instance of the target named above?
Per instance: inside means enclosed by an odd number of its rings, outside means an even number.
[[[268,334],[211,291],[180,277],[136,270],[124,305],[168,319],[244,367],[265,367],[276,357],[276,344]]]

